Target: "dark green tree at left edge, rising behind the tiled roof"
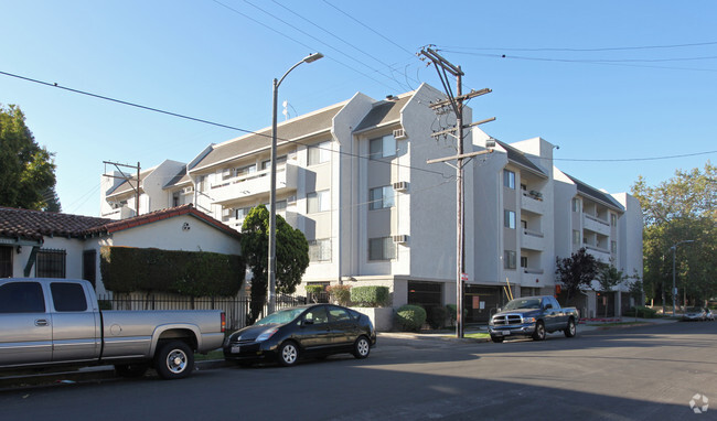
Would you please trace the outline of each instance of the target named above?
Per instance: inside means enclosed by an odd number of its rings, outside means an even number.
[[[0,205],[60,210],[53,156],[35,142],[19,107],[0,105]]]

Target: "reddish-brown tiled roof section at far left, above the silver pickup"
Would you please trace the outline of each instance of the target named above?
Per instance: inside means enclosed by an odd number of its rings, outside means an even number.
[[[42,241],[49,237],[83,238],[111,219],[0,207],[0,237]]]

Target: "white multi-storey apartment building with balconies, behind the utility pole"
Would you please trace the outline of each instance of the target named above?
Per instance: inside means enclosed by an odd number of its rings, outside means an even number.
[[[450,126],[450,116],[429,107],[443,98],[425,84],[385,100],[356,94],[278,126],[277,212],[309,240],[303,283],[386,285],[394,307],[456,302],[456,170],[426,163],[456,154],[454,140],[431,137]],[[165,161],[147,170],[140,174],[140,213],[193,203],[240,229],[253,206],[269,202],[270,133],[267,128],[212,144],[186,165]],[[488,138],[469,132],[465,152],[483,149]],[[570,238],[557,239],[572,230],[564,227],[572,219],[558,217],[557,209],[567,213],[574,197],[598,201],[575,182],[569,196],[552,153],[542,139],[499,142],[494,153],[465,168],[469,321],[488,320],[505,301],[509,283],[513,294],[555,290],[555,257],[574,250]],[[103,216],[133,215],[131,182],[106,183]],[[608,239],[589,225],[577,229],[592,233],[585,238],[598,249],[618,241],[616,257],[634,260],[630,268],[641,271],[642,222],[625,217],[636,201],[620,197],[610,208],[619,224]],[[602,208],[586,209],[610,220]],[[639,206],[636,212],[641,217]]]

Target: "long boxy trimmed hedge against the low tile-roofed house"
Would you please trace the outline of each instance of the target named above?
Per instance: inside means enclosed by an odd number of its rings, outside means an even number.
[[[246,265],[236,255],[105,246],[99,270],[113,292],[231,296],[244,282]]]

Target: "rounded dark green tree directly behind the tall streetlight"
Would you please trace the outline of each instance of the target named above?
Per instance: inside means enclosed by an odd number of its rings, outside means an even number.
[[[290,294],[301,283],[309,267],[309,242],[280,215],[276,217],[276,291]],[[252,270],[252,305],[248,322],[254,323],[267,301],[269,256],[269,210],[253,208],[242,225],[242,255]]]

